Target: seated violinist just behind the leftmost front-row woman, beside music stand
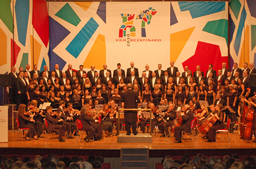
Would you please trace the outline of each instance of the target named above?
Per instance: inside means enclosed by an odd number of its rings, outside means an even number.
[[[36,101],[36,100],[35,100]],[[37,102],[37,101],[36,101]],[[38,127],[38,138],[42,137],[45,138],[44,136],[41,135],[42,133],[42,110],[38,110],[37,107],[34,106],[34,104],[30,101],[28,102],[28,111],[32,114],[32,119],[35,120],[34,126]]]

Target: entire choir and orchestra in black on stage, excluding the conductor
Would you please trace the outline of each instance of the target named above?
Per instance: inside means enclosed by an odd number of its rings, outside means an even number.
[[[250,112],[253,117],[250,133],[255,132],[256,103],[253,98],[245,98],[249,88],[250,73],[255,73],[252,63],[244,63],[244,70],[234,63],[232,71],[228,71],[226,63],[222,63],[223,69],[220,70],[214,70],[210,64],[206,72],[202,72],[200,66],[197,66],[197,71],[193,73],[188,66],[185,66],[184,72],[179,72],[174,65],[173,61],[170,62],[170,67],[165,71],[162,70],[161,64],[155,71],[149,70],[150,66],[146,65],[141,77],[138,69],[134,67],[134,62],[131,62],[131,67],[127,68],[126,76],[120,64],[117,64],[117,69],[112,71],[113,76],[111,70],[106,69],[108,67],[106,64],[99,72],[95,71],[95,66],[86,72],[82,65],[79,66],[78,71],[74,71],[71,64],[69,70],[63,73],[58,70],[57,64],[52,72],[47,70],[47,66],[39,72],[37,65],[33,65],[32,71],[29,71],[30,65],[27,65],[26,70],[19,73],[16,72],[15,67],[12,67],[10,102],[17,103],[20,125],[30,125],[30,134],[26,135],[27,140],[30,137],[36,139],[44,137],[41,134],[44,131],[45,118],[49,123],[48,128],[59,130],[59,142],[65,142],[62,138],[65,135],[67,138],[74,138],[73,135],[77,135],[75,123],[77,119],[86,125],[84,129],[90,133],[84,139],[86,142],[90,142],[90,139],[101,139],[102,135],[109,137],[113,133],[114,126],[118,131],[125,123],[120,119],[118,124],[116,114],[118,108],[124,105],[121,98],[123,92],[127,91],[128,83],[132,83],[132,90],[140,98],[138,106],[147,103],[145,108],[150,108],[153,112],[151,132],[158,130],[161,137],[167,137],[173,132],[175,143],[181,143],[181,131],[189,132],[191,120],[195,118],[197,124],[204,126],[204,128],[197,127],[196,134],[199,134],[200,130],[204,131],[201,134],[207,138],[207,142],[215,142],[215,131],[225,128],[224,122],[228,119],[231,119],[231,128],[238,121],[249,126]],[[251,92],[250,97],[253,95]],[[44,110],[37,108],[45,102],[51,103],[51,106]],[[25,104],[27,106],[24,107]],[[103,108],[96,111],[95,105],[102,105]],[[158,106],[165,106],[165,109]],[[54,116],[51,116],[52,107],[57,108]],[[29,115],[25,115],[25,110]],[[89,115],[93,112],[97,114]],[[150,119],[145,118],[143,112],[143,110],[138,112],[138,133],[146,133],[150,124]],[[216,118],[217,121],[207,129],[206,123],[210,123],[209,117]],[[244,118],[243,122],[242,118]],[[179,120],[182,122],[177,125]],[[113,135],[117,133],[114,132]],[[244,138],[244,135],[241,137]]]

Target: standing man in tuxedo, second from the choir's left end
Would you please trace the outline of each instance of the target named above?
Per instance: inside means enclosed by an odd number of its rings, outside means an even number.
[[[19,104],[27,104],[26,98],[26,82],[23,79],[24,72],[19,72],[18,77],[16,78],[16,91],[17,91],[17,107]]]

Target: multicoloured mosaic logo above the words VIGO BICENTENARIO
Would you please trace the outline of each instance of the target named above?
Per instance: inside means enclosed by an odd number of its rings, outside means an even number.
[[[151,23],[152,17],[157,13],[155,9],[152,7],[148,8],[145,11],[141,11],[139,15],[136,16],[137,19],[141,19],[141,37],[146,37],[146,29],[145,25]],[[127,27],[130,28],[130,33],[132,37],[136,36],[136,28],[133,25],[133,20],[135,14],[121,14],[123,19],[122,26],[119,28],[119,38],[126,36],[126,29]]]

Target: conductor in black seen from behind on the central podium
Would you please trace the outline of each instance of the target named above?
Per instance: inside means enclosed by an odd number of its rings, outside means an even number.
[[[127,85],[127,91],[123,92],[121,96],[121,103],[124,102],[124,108],[137,108],[138,103],[140,102],[140,98],[134,90],[132,90],[133,85],[129,83]],[[137,101],[137,102],[136,102]],[[124,111],[124,122],[125,122],[125,130],[127,132],[126,135],[131,135],[131,125],[133,134],[136,135],[137,131],[137,111],[126,110]]]

